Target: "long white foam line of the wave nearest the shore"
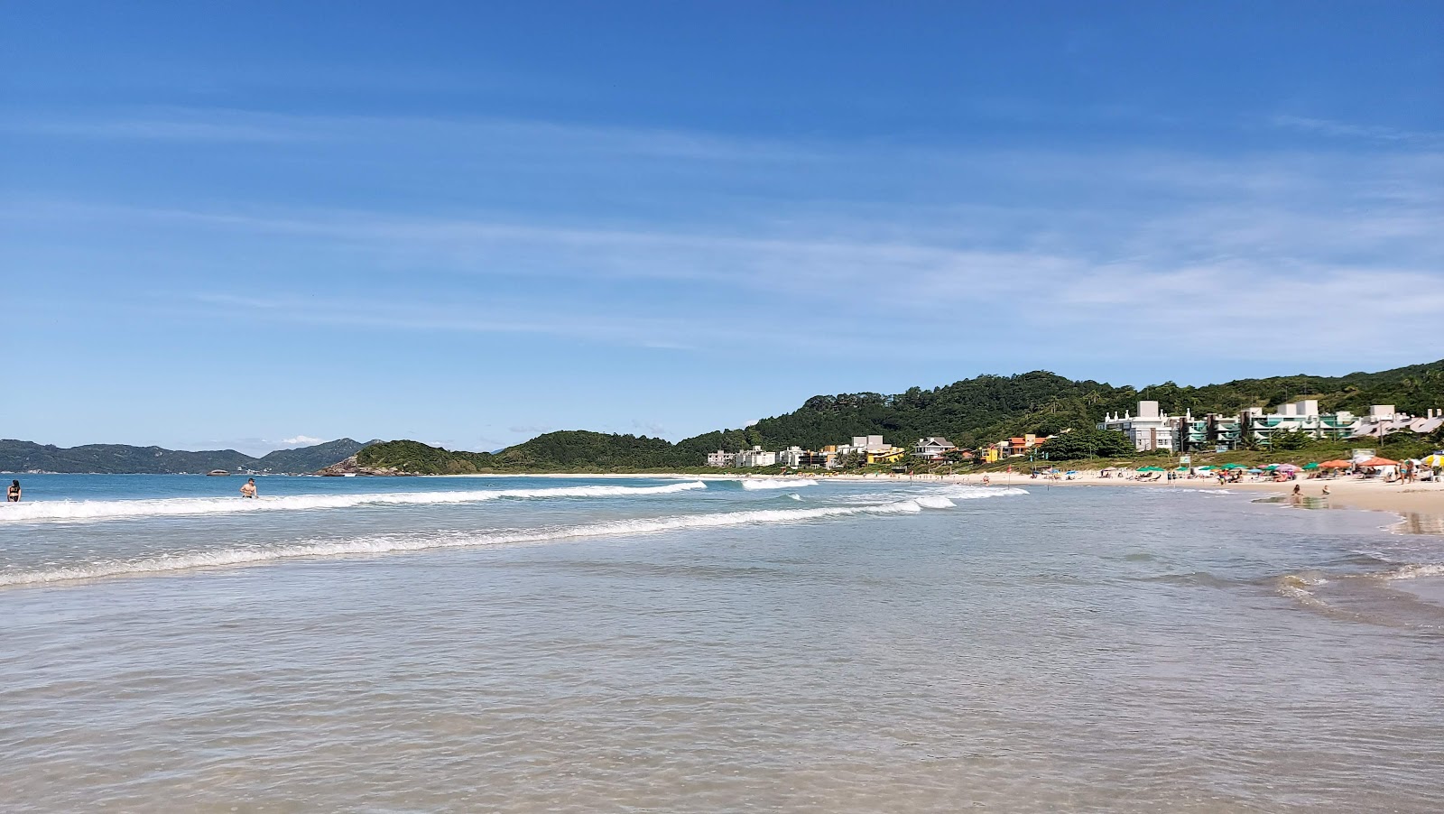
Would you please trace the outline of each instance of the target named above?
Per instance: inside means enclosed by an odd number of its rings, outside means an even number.
[[[924,508],[947,508],[949,501],[937,498],[920,498],[878,504],[868,507],[832,507],[807,509],[764,509],[764,511],[735,511],[718,514],[689,514],[673,517],[651,517],[635,520],[617,520],[608,522],[589,522],[582,525],[537,528],[504,534],[477,533],[448,533],[432,537],[378,535],[360,537],[335,541],[306,541],[289,546],[269,546],[257,548],[218,548],[212,551],[188,551],[176,554],[162,554],[143,560],[101,560],[82,566],[48,569],[38,572],[0,573],[0,586],[48,585],[56,582],[91,580],[127,574],[144,574],[157,572],[179,572],[191,569],[205,569],[217,566],[240,566],[250,563],[266,563],[274,560],[293,560],[306,557],[334,557],[344,554],[384,554],[391,551],[423,551],[429,548],[462,548],[482,546],[505,546],[526,543],[547,543],[553,540],[570,540],[579,537],[621,537],[632,534],[651,534],[658,531],[674,531],[684,528],[719,528],[728,525],[765,525],[773,522],[799,522],[807,520],[822,520],[846,515],[898,515],[917,514]]]

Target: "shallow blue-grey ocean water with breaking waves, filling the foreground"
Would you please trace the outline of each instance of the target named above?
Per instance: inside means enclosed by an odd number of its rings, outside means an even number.
[[[1388,515],[1034,482],[22,482],[4,811],[1444,808],[1444,538]]]

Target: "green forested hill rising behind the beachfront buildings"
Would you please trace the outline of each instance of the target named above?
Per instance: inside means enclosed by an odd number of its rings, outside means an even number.
[[[677,443],[630,434],[570,430],[537,436],[497,453],[448,452],[417,442],[367,447],[358,462],[410,472],[609,472],[676,471],[700,466],[708,452],[761,445],[817,449],[852,436],[882,434],[897,445],[946,436],[963,447],[1022,433],[1054,434],[1092,427],[1103,413],[1157,400],[1170,413],[1236,413],[1298,398],[1318,398],[1324,411],[1363,413],[1393,404],[1422,414],[1444,407],[1444,361],[1341,377],[1287,375],[1203,387],[1164,382],[1144,388],[1073,381],[1047,371],[980,375],[931,390],[814,395],[800,408],[736,430],[716,430]]]

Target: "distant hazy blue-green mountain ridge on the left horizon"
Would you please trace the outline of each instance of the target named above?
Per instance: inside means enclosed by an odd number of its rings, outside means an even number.
[[[277,449],[253,458],[234,449],[186,452],[159,446],[92,443],[59,447],[0,439],[0,472],[68,472],[100,475],[183,475],[212,469],[256,471],[274,475],[305,475],[380,443],[338,439],[334,442]]]

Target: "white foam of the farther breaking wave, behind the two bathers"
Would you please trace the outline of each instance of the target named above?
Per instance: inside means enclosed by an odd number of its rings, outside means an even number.
[[[114,520],[253,511],[297,511],[352,508],[364,505],[469,504],[501,498],[612,498],[667,495],[706,489],[700,481],[664,486],[557,486],[550,489],[468,489],[452,492],[377,492],[345,495],[283,495],[248,501],[244,498],[156,498],[133,501],[35,501],[0,504],[0,522],[56,520]]]

